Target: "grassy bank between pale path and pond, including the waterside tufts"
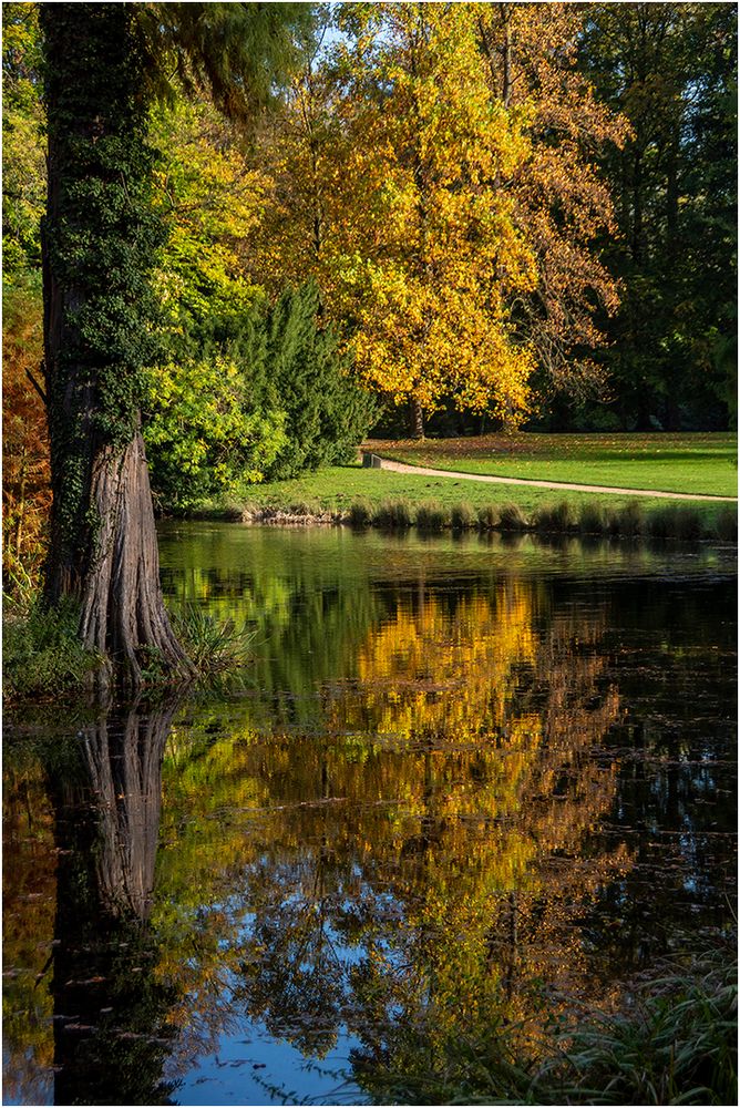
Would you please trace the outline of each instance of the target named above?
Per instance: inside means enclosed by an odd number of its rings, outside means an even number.
[[[429,478],[363,469],[318,470],[292,481],[255,485],[246,505],[208,505],[205,514],[243,510],[298,516],[328,515],[357,526],[424,531],[501,530],[542,533],[628,534],[655,537],[715,538],[737,535],[731,504],[665,501],[645,496],[582,493],[522,485],[476,484],[454,478]]]

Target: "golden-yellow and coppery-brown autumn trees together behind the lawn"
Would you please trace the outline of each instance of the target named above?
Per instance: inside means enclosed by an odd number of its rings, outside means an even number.
[[[266,138],[255,264],[310,269],[362,379],[417,430],[450,398],[515,425],[532,384],[593,390],[595,309],[617,305],[595,155],[625,122],[576,70],[579,12],[362,3],[338,22]]]

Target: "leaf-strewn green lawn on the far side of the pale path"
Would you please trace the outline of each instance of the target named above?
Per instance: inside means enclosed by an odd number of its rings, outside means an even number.
[[[474,439],[428,439],[422,442],[378,440],[367,443],[367,447],[398,462],[463,473],[717,496],[738,494],[738,440],[734,433],[518,432]],[[515,500],[514,488],[511,495],[508,490],[505,495]],[[553,490],[548,495],[552,500],[558,493]],[[472,496],[466,499],[472,500]]]

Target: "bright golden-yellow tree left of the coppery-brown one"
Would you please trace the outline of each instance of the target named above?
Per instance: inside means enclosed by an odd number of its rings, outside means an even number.
[[[417,433],[450,393],[515,425],[534,360],[508,301],[536,270],[501,183],[526,156],[524,115],[489,93],[470,6],[348,6],[342,27],[338,301],[360,372],[411,403]]]

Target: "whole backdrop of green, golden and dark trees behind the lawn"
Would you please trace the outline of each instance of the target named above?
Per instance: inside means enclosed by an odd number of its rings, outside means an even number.
[[[723,430],[737,417],[733,3],[317,6],[256,126],[152,111],[155,499],[368,431]],[[35,4],[3,4],[3,545],[48,513]],[[192,92],[193,90],[191,90]]]

